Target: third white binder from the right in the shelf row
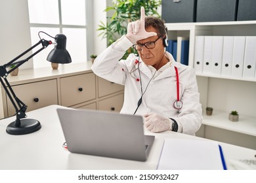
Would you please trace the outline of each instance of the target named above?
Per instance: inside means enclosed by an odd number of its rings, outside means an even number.
[[[224,36],[223,37],[223,62],[222,62],[222,68],[221,68],[221,75],[223,76],[231,76],[233,46],[234,46],[234,37]]]

